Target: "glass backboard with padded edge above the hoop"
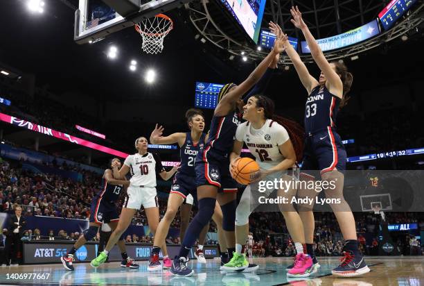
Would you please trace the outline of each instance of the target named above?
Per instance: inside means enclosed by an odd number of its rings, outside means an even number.
[[[74,40],[85,44],[134,26],[191,0],[79,0],[75,12]]]

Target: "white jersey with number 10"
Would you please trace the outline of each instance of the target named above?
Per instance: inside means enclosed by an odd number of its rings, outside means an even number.
[[[156,187],[156,173],[164,171],[159,155],[150,152],[129,155],[124,165],[130,167],[132,186]]]

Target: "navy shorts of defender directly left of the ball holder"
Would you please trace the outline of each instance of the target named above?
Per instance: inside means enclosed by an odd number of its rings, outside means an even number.
[[[196,185],[213,185],[218,192],[237,192],[237,183],[229,172],[229,158],[215,155],[213,150],[197,156],[195,163]]]

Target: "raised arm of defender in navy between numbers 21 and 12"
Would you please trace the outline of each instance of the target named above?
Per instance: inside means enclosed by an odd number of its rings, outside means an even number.
[[[274,44],[274,48],[270,53],[268,53],[268,56],[266,56],[262,62],[254,69],[253,72],[243,81],[240,83],[240,85],[237,85],[232,90],[230,90],[227,95],[225,95],[220,102],[218,103],[218,106],[215,108],[215,116],[224,116],[227,115],[228,112],[233,108],[233,103],[235,103],[238,99],[240,99],[240,96],[245,94],[247,91],[251,89],[260,78],[265,74],[265,71],[267,70],[268,65],[272,62],[272,59],[282,51],[284,51],[283,47],[283,35],[277,35],[277,39]]]

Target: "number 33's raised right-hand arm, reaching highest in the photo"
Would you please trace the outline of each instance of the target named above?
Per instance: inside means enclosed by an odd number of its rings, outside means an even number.
[[[293,16],[293,19],[290,21],[294,24],[294,26],[301,29],[303,35],[305,36],[305,40],[308,43],[310,54],[317,63],[319,69],[321,69],[321,71],[324,73],[326,81],[329,84],[329,89],[333,90],[332,93],[335,94],[335,96],[338,96],[342,99],[343,83],[340,79],[340,76],[336,74],[336,72],[330,66],[330,63],[324,56],[324,53],[317,44],[317,41],[315,41],[314,36],[310,33],[308,26],[306,26],[305,22],[303,22],[302,14],[299,11],[299,8],[297,6],[296,8],[292,7],[290,12]]]

